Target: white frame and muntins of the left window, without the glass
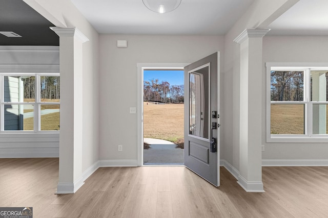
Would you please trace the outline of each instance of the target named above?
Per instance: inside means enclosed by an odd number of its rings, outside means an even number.
[[[35,101],[34,102],[5,102],[4,101],[4,77],[15,77],[15,76],[32,76],[35,77]],[[60,99],[59,102],[42,102],[40,98],[41,94],[41,87],[40,87],[40,78],[41,77],[59,77],[59,73],[53,72],[1,72],[0,73],[0,134],[7,134],[7,133],[23,133],[23,134],[34,134],[34,133],[59,133],[59,130],[41,130],[41,105],[59,105],[60,108]],[[4,122],[4,112],[5,112],[5,105],[33,105],[33,130],[5,130],[5,122]]]

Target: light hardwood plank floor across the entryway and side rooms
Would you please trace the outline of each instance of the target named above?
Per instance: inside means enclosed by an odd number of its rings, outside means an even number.
[[[328,217],[328,167],[263,167],[265,193],[223,167],[215,188],[183,166],[102,167],[75,193],[54,195],[57,158],[0,159],[0,207],[34,217]]]

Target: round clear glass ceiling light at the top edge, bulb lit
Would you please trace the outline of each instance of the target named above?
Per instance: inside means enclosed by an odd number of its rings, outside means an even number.
[[[149,10],[163,14],[175,10],[181,0],[142,0],[142,2]]]

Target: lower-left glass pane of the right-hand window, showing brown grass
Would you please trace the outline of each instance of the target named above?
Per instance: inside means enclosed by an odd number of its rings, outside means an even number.
[[[304,134],[304,104],[271,104],[271,134]]]

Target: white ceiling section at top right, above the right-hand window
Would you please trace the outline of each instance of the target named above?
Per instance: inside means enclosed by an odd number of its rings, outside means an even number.
[[[328,0],[300,0],[268,28],[270,35],[328,35]]]

